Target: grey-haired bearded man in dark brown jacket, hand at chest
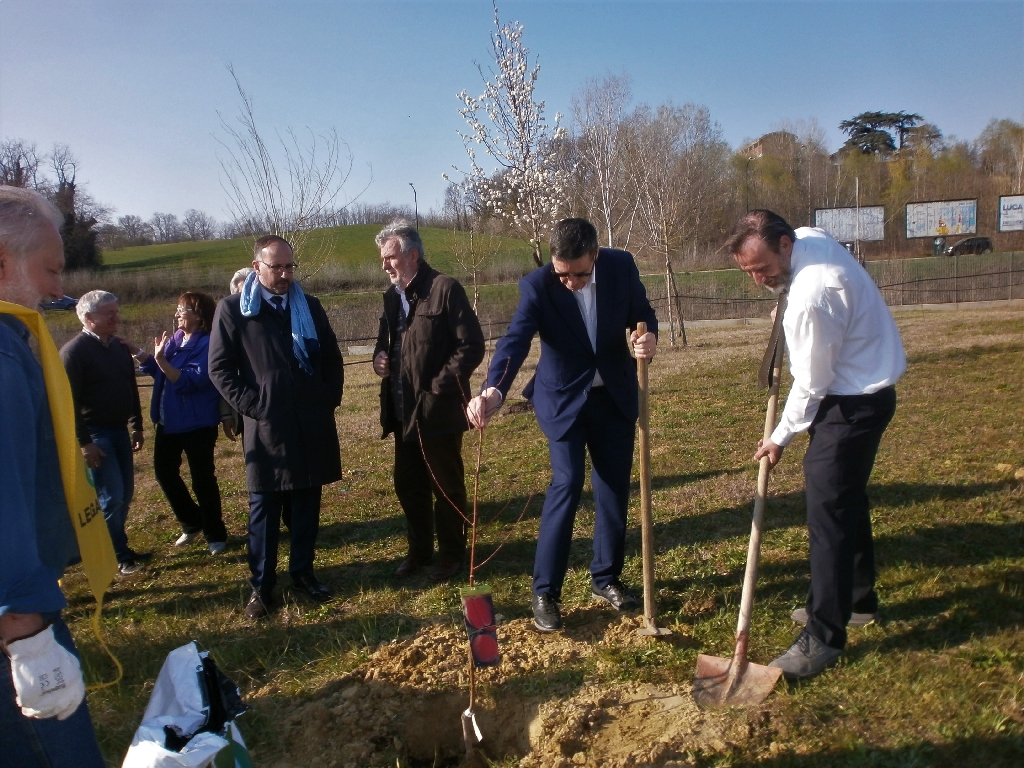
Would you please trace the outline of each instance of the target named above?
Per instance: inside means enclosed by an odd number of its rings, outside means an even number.
[[[396,572],[409,575],[432,560],[436,529],[430,578],[443,582],[459,572],[466,552],[462,435],[483,332],[458,281],[424,261],[416,227],[396,221],[376,242],[391,280],[374,350],[381,437],[394,432],[394,490],[409,536]]]

